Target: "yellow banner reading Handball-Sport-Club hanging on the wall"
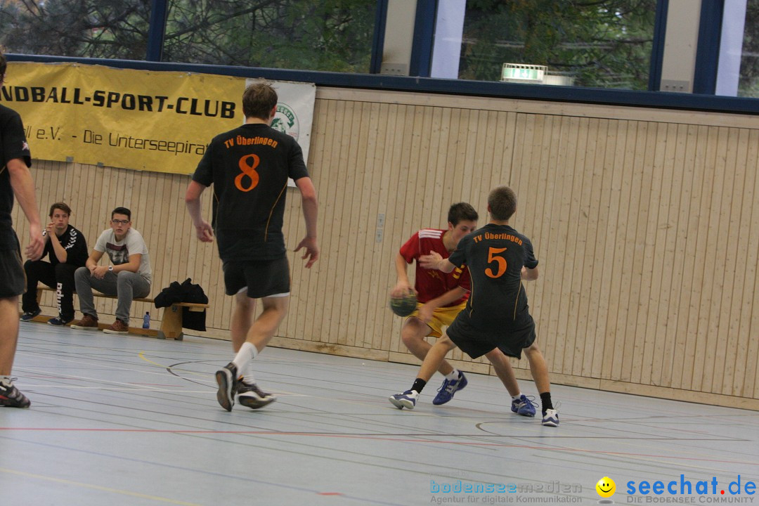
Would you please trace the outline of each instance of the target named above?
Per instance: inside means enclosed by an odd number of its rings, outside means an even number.
[[[0,102],[36,159],[192,174],[216,135],[244,122],[241,77],[11,62]]]

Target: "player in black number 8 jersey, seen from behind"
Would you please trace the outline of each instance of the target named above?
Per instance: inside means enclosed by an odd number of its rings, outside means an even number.
[[[257,409],[275,400],[254,382],[253,360],[271,341],[288,309],[290,269],[282,219],[288,178],[301,191],[306,237],[306,267],[319,258],[317,193],[306,171],[301,147],[270,127],[276,91],[263,81],[247,87],[242,99],[245,124],[216,136],[197,166],[184,197],[197,237],[219,246],[226,294],[235,297],[230,330],[235,359],[216,372],[216,398],[231,410],[240,404]],[[213,184],[213,225],[201,215],[200,194]],[[253,321],[256,301],[263,312]]]

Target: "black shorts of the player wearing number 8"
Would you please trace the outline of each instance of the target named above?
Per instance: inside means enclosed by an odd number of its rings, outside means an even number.
[[[251,299],[285,297],[290,294],[290,263],[286,256],[276,260],[225,262],[227,295],[246,290]]]

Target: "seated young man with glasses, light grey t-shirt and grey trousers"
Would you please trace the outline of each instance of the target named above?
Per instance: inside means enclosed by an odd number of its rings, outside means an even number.
[[[132,300],[150,294],[150,256],[142,234],[131,228],[132,212],[117,207],[111,212],[111,228],[98,237],[95,248],[84,267],[74,273],[79,295],[79,310],[83,317],[71,328],[97,330],[98,317],[93,301],[93,288],[106,295],[118,297],[116,321],[102,332],[129,332],[129,312]],[[103,253],[108,253],[111,265],[99,266]]]

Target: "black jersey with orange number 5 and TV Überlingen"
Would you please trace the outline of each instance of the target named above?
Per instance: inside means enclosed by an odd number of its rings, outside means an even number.
[[[448,259],[455,266],[469,267],[472,291],[465,313],[471,325],[499,332],[524,324],[529,313],[521,268],[537,267],[527,237],[509,225],[489,223],[463,237]]]

